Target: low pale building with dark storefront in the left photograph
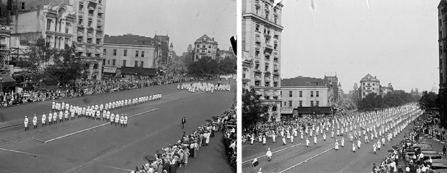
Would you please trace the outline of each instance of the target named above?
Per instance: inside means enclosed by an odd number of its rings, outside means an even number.
[[[104,37],[105,76],[155,76],[157,44],[146,36],[126,34]],[[141,68],[135,68],[141,67]]]

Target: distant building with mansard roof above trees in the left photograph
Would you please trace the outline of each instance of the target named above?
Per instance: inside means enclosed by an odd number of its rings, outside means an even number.
[[[215,59],[217,56],[217,41],[214,38],[210,38],[206,34],[197,38],[194,42],[194,61],[199,60],[203,56],[210,56]]]

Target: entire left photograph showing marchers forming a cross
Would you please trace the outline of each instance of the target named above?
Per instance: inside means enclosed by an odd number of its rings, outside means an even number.
[[[237,3],[0,0],[0,172],[237,172]]]

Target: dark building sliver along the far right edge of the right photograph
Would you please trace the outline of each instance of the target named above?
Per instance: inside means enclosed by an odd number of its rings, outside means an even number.
[[[447,128],[447,1],[441,0],[438,5],[439,32],[439,100],[441,125]]]

